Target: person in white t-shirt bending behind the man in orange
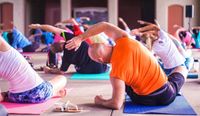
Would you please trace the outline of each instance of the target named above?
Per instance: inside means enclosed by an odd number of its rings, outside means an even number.
[[[147,22],[139,20],[138,23],[144,25]],[[159,24],[157,25],[159,27]],[[132,33],[139,36],[137,32],[139,33],[138,29],[132,30]],[[145,36],[145,34],[143,36]],[[181,43],[172,35],[161,29],[159,38],[145,36],[141,37],[141,39],[144,39],[147,48],[159,57],[158,62],[167,75],[170,75],[170,73],[180,65],[186,65],[188,70],[191,69],[193,58],[186,53]]]

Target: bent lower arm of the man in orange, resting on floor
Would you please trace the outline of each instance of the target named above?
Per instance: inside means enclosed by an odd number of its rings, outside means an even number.
[[[119,110],[124,102],[125,96],[125,83],[116,78],[110,78],[113,93],[111,99],[104,99],[102,95],[95,97],[95,104],[104,106],[111,109]]]

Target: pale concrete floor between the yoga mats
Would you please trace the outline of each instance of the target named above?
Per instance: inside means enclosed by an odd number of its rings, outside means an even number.
[[[27,54],[32,58],[34,67],[44,66],[46,61],[45,53],[38,54]],[[124,114],[123,107],[120,110],[110,110],[103,107],[94,105],[95,95],[103,95],[106,98],[110,98],[112,94],[112,88],[109,80],[70,80],[71,74],[74,72],[73,66],[70,67],[69,73],[65,74],[68,78],[67,88],[72,90],[68,95],[61,101],[70,100],[70,102],[77,104],[83,109],[80,113],[58,113],[53,112],[53,106],[51,106],[48,111],[41,114],[42,116],[143,116],[142,114]],[[42,78],[45,80],[51,79],[52,74],[44,74],[43,72],[38,72]],[[0,88],[2,91],[7,90],[8,85],[4,80],[0,80]],[[197,115],[200,115],[200,80],[199,79],[188,79],[182,88],[182,94],[186,97],[187,101],[194,108]],[[149,114],[148,114],[149,115]],[[155,115],[155,114],[154,114]],[[14,115],[12,115],[14,116]],[[160,115],[157,115],[160,116]],[[166,115],[165,115],[166,116]]]

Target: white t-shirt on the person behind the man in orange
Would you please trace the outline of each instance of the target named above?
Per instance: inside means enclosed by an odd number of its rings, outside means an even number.
[[[155,54],[161,58],[164,68],[170,69],[184,64],[185,58],[180,54],[168,34],[161,30],[159,35],[159,39],[154,41],[152,48]]]

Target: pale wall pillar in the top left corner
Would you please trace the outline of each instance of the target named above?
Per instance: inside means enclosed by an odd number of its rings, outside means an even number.
[[[24,33],[24,25],[25,25],[25,8],[24,8],[24,0],[0,0],[0,4],[8,2],[13,3],[13,22],[15,26]]]

